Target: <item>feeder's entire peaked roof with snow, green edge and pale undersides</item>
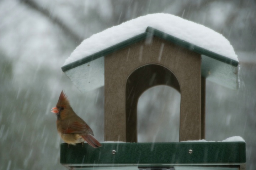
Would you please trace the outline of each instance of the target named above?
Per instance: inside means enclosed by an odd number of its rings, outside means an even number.
[[[103,86],[103,57],[143,39],[145,32],[201,53],[204,77],[234,89],[238,87],[238,57],[230,42],[201,24],[165,13],[138,17],[92,35],[76,47],[62,70],[81,91]],[[129,43],[124,43],[127,40]],[[83,80],[79,72],[83,72]]]

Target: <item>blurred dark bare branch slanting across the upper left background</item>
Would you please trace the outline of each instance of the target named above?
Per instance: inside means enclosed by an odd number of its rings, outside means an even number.
[[[33,0],[18,0],[22,4],[29,6],[31,9],[41,13],[43,16],[47,17],[52,23],[57,24],[63,32],[75,42],[75,44],[80,44],[81,41],[84,39],[82,36],[78,35],[74,30],[70,29],[61,19],[55,17],[50,14],[50,12],[46,9],[41,7],[39,4],[34,2]]]

